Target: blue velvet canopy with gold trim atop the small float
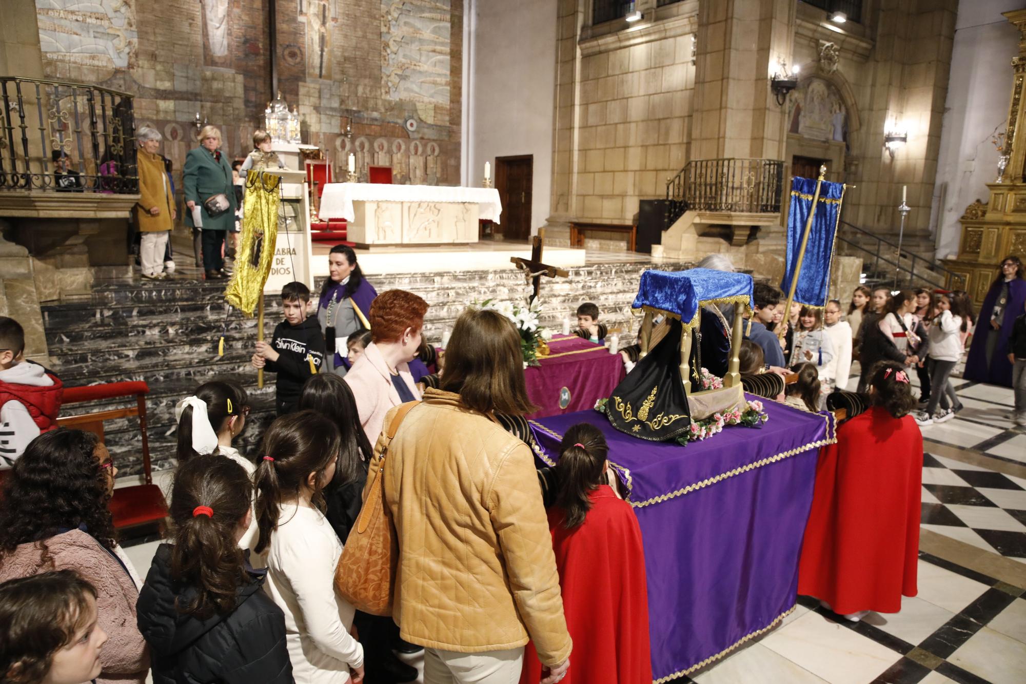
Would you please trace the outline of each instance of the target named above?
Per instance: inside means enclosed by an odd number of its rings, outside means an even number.
[[[692,328],[699,325],[699,312],[706,304],[741,302],[750,310],[751,301],[751,275],[692,268],[686,271],[645,271],[641,274],[633,306],[679,318],[684,328]]]

